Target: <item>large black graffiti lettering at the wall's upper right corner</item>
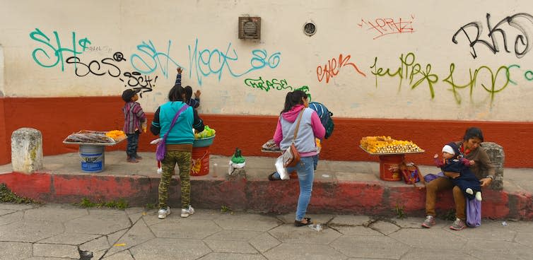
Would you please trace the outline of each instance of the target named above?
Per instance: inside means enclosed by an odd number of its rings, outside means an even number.
[[[515,52],[516,57],[520,59],[524,57],[524,55],[527,54],[527,52],[529,52],[529,49],[531,49],[531,45],[529,45],[529,39],[533,36],[533,32],[527,29],[530,28],[531,25],[533,25],[532,15],[530,15],[529,13],[516,13],[513,16],[508,16],[506,18],[503,18],[498,23],[496,23],[494,27],[492,27],[491,25],[491,14],[490,13],[486,14],[486,20],[487,20],[487,28],[488,28],[487,36],[491,39],[491,42],[488,42],[487,40],[479,39],[479,37],[481,36],[481,33],[483,32],[483,25],[480,22],[472,22],[472,23],[467,23],[466,25],[463,25],[452,36],[452,42],[457,45],[458,44],[457,35],[459,35],[460,33],[464,33],[464,35],[467,37],[467,40],[469,41],[469,47],[472,48],[472,52],[470,52],[470,54],[472,54],[472,57],[476,59],[477,53],[476,53],[475,46],[479,43],[488,47],[488,49],[493,54],[496,54],[496,52],[500,52],[500,47],[498,46],[498,39],[497,37],[495,37],[496,33],[498,33],[498,35],[501,35],[501,39],[503,40],[503,49],[505,50],[505,52],[510,53],[510,50],[508,49],[508,43],[507,43],[507,40],[508,40],[507,33],[503,28],[501,28],[503,27],[503,25],[508,24],[510,25],[510,27],[513,27],[520,32],[520,34],[516,35],[515,37],[514,52]],[[469,32],[467,32],[469,28],[474,29],[475,37],[473,37],[472,35],[469,35]]]

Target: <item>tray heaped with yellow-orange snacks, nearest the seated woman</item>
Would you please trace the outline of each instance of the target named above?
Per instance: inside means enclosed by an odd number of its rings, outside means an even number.
[[[423,153],[412,141],[395,140],[390,136],[365,136],[361,148],[371,154]]]

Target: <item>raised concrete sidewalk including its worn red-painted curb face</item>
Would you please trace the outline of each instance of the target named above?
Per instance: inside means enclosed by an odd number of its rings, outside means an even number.
[[[105,153],[105,171],[81,171],[78,153],[45,156],[44,169],[33,175],[11,172],[11,165],[0,166],[0,182],[21,196],[47,203],[76,203],[127,199],[131,206],[146,206],[157,201],[159,176],[154,153],[141,153],[144,160],[129,163],[123,151]],[[235,211],[288,213],[298,199],[298,181],[269,182],[274,158],[246,157],[246,175],[226,179],[230,158],[211,155],[209,175],[192,177],[192,204],[197,208]],[[218,165],[214,176],[213,164]],[[424,175],[436,173],[433,166],[421,165]],[[177,177],[175,177],[177,178]],[[177,179],[170,187],[170,206],[179,205]],[[450,211],[452,196],[442,194],[437,205],[440,213]],[[503,190],[484,189],[484,218],[533,218],[533,169],[505,168]],[[320,160],[310,213],[351,213],[394,216],[397,208],[407,216],[423,215],[425,190],[404,182],[379,178],[378,162]]]

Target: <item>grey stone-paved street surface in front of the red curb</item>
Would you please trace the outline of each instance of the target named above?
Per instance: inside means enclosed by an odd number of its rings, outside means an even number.
[[[533,255],[533,222],[450,221],[309,214],[323,230],[293,225],[294,213],[156,210],[0,203],[0,259],[522,259]],[[93,257],[81,258],[80,252]]]

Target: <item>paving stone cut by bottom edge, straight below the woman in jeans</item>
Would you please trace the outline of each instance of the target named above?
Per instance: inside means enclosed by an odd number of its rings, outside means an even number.
[[[324,244],[280,244],[264,253],[269,260],[341,260],[346,255]]]

